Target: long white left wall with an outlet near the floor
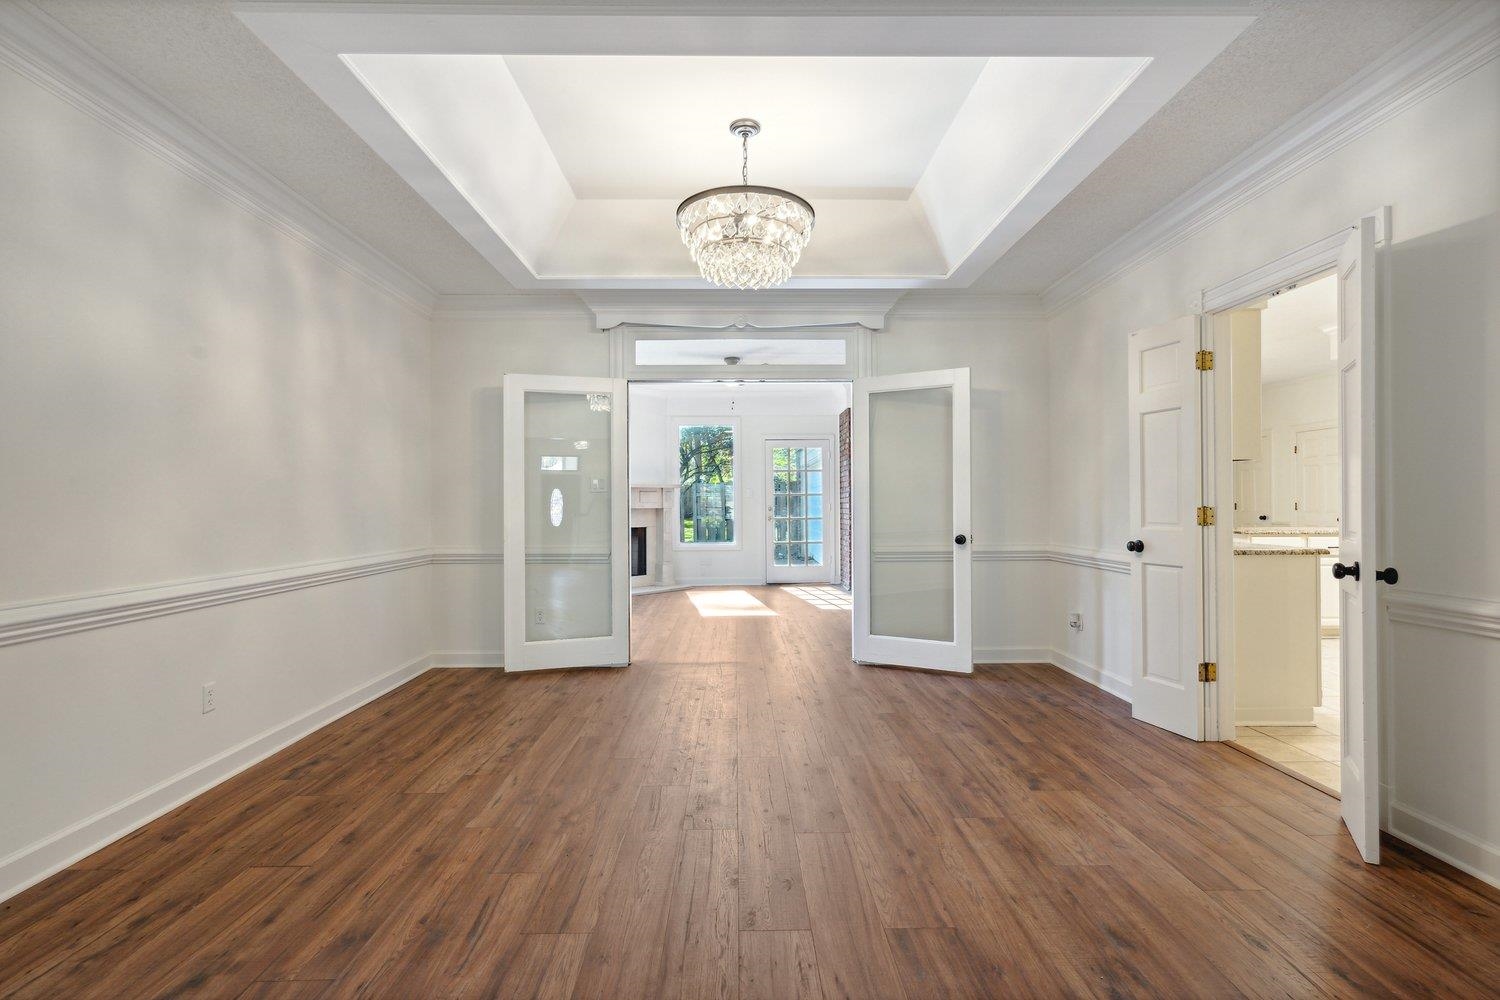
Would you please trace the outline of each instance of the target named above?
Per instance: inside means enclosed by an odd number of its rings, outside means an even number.
[[[423,657],[430,480],[424,318],[9,69],[0,190],[3,898]]]

